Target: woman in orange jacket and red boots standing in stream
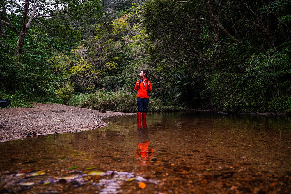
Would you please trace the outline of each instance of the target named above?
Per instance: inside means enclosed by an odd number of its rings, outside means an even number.
[[[146,70],[141,70],[139,74],[141,79],[136,81],[134,86],[134,90],[137,90],[137,127],[141,128],[141,113],[143,117],[143,128],[147,128],[146,125],[146,113],[148,110],[148,102],[149,102],[149,92],[152,91],[152,84],[148,79],[148,72]]]

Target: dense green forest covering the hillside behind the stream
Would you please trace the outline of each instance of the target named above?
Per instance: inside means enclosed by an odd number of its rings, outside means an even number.
[[[0,97],[135,111],[291,113],[290,1],[1,0]],[[25,11],[26,10],[26,11]]]

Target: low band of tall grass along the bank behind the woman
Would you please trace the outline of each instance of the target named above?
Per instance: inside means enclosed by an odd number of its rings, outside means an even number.
[[[104,109],[116,112],[136,112],[136,94],[127,90],[117,92],[97,91],[94,93],[85,93],[74,95],[70,102],[71,106],[89,108],[94,110]],[[162,100],[150,98],[148,111],[181,111],[182,107],[164,106]]]

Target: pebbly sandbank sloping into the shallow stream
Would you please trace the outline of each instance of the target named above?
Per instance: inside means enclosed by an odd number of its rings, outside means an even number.
[[[105,127],[101,119],[134,113],[118,113],[66,106],[33,104],[35,108],[0,109],[0,142],[56,133],[73,133]]]

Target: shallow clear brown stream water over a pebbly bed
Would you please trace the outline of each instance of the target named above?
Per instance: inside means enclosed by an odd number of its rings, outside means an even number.
[[[0,143],[0,190],[98,193],[102,188],[96,184],[111,179],[109,175],[81,177],[84,185],[76,181],[43,185],[48,179],[88,174],[85,169],[95,167],[98,172],[133,172],[152,181],[141,189],[141,181],[125,179],[116,190],[123,193],[291,192],[290,117],[150,113],[147,129],[137,129],[136,115],[105,121],[112,124]]]

